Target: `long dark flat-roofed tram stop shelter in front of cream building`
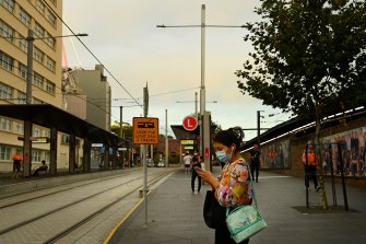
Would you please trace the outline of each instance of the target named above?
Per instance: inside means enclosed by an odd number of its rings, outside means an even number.
[[[16,104],[0,105],[0,116],[24,121],[23,162],[24,176],[31,176],[32,170],[32,130],[33,124],[50,129],[49,138],[49,173],[57,173],[57,132],[70,135],[69,141],[69,172],[74,172],[75,165],[75,138],[82,138],[83,144],[83,172],[91,170],[92,143],[103,143],[105,147],[105,162],[109,162],[109,148],[113,149],[113,169],[117,166],[118,147],[126,142],[118,136],[94,126],[66,111],[50,104]],[[105,167],[109,164],[105,163]]]

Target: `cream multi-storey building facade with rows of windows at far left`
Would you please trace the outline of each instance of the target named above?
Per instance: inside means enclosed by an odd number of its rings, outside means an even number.
[[[61,38],[62,0],[0,0],[0,104],[25,104],[26,79],[32,75],[32,103],[61,107]],[[33,30],[33,73],[27,72],[28,30]],[[32,40],[31,40],[32,42]],[[0,171],[12,169],[12,154],[23,142],[23,121],[0,117]],[[49,137],[49,129],[33,125],[34,137]],[[62,151],[68,152],[68,135],[58,135],[60,141],[59,167]],[[62,147],[64,144],[64,147]],[[64,156],[66,158],[66,156]],[[33,143],[34,165],[49,161],[49,144]]]

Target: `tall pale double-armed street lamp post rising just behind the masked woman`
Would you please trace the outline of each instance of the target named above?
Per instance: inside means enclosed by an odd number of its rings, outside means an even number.
[[[156,25],[156,27],[200,27],[201,28],[201,86],[200,86],[200,151],[204,155],[204,163],[210,164],[211,169],[211,160],[210,160],[210,123],[204,121],[204,117],[206,119],[210,118],[208,113],[205,112],[205,28],[206,27],[245,27],[245,25],[206,25],[205,24],[205,4],[201,7],[201,24],[200,25]]]

